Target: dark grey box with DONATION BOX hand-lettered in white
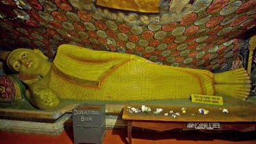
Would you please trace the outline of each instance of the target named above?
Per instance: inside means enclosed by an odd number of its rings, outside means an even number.
[[[105,105],[81,104],[72,110],[74,143],[102,143],[106,132]]]

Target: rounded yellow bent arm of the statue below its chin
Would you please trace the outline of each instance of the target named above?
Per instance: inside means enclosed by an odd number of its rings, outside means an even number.
[[[51,110],[55,109],[59,104],[59,98],[55,92],[44,85],[30,85],[29,93],[31,103],[38,107],[38,109]]]

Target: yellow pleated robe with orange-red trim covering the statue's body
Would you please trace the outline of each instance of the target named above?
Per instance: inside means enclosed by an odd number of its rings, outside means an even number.
[[[214,95],[208,70],[161,66],[123,53],[61,45],[51,66],[49,87],[75,100],[164,100]]]

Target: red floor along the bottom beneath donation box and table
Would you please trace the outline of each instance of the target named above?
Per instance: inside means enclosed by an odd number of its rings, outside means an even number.
[[[70,144],[73,143],[72,129],[61,132],[59,136],[39,134],[18,134],[0,132],[0,143],[3,144]],[[106,130],[103,144],[128,143],[126,130]],[[199,132],[171,130],[166,132],[132,131],[133,144],[169,144],[169,143],[256,143],[256,132]]]

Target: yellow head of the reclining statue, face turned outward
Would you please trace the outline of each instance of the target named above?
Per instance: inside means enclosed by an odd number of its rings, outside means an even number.
[[[18,48],[10,53],[7,64],[11,70],[18,73],[40,75],[43,63],[47,63],[47,57],[39,50]]]

